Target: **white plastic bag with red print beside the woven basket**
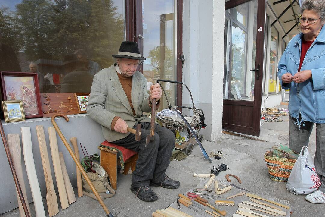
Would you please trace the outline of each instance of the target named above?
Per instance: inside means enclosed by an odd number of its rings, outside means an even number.
[[[304,149],[304,155],[302,155]],[[316,191],[320,185],[321,182],[309,156],[308,147],[304,146],[290,173],[287,189],[296,195],[307,195]]]

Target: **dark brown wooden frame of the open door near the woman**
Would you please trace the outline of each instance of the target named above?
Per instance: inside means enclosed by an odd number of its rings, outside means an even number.
[[[252,0],[233,0],[226,2],[225,10],[230,9],[232,7],[236,7],[243,3],[249,2]],[[253,120],[252,127],[240,126],[235,124],[223,123],[222,127],[227,130],[240,132],[244,134],[250,134],[254,136],[260,135],[260,120],[261,120],[261,103],[262,103],[262,85],[263,85],[263,61],[264,61],[264,34],[265,34],[265,12],[266,12],[266,0],[257,0],[257,11],[258,13],[263,13],[264,16],[257,17],[257,25],[256,28],[262,27],[262,31],[259,32],[256,30],[256,47],[263,49],[256,49],[256,59],[255,59],[255,69],[258,65],[259,72],[255,73],[254,80],[254,101],[237,101],[237,100],[223,100],[223,105],[234,105],[234,106],[251,106],[253,107]],[[257,79],[257,75],[259,78]],[[234,114],[235,115],[235,114]]]

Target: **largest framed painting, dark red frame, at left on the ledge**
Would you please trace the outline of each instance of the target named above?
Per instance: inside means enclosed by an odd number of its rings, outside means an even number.
[[[0,72],[4,100],[21,100],[26,118],[43,117],[37,73]]]

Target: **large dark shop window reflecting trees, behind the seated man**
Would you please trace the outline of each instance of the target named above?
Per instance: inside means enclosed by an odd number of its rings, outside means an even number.
[[[123,4],[0,0],[0,71],[37,72],[41,93],[90,92],[124,40]]]

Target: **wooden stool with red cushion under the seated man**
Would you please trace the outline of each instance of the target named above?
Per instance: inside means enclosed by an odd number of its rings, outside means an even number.
[[[105,141],[107,142],[107,141]],[[104,143],[104,142],[103,142]],[[102,143],[102,144],[103,144]],[[119,149],[118,145],[109,143],[109,144],[103,144],[108,147],[114,147],[118,150],[110,150],[110,148],[104,148],[101,146],[98,146],[98,149],[100,150],[100,165],[104,168],[104,170],[107,172],[108,177],[110,178],[110,185],[113,189],[117,189],[117,166],[120,165],[120,158],[117,159],[117,153],[119,151],[122,152],[123,155],[123,161],[124,161],[124,174],[126,175],[131,168],[131,171],[133,172],[136,169],[136,160],[138,159],[138,154],[136,152],[133,152],[129,149],[121,147]],[[124,152],[124,153],[123,153]],[[128,152],[128,153],[126,153]],[[131,156],[130,156],[131,155]],[[126,158],[125,158],[126,156]]]

